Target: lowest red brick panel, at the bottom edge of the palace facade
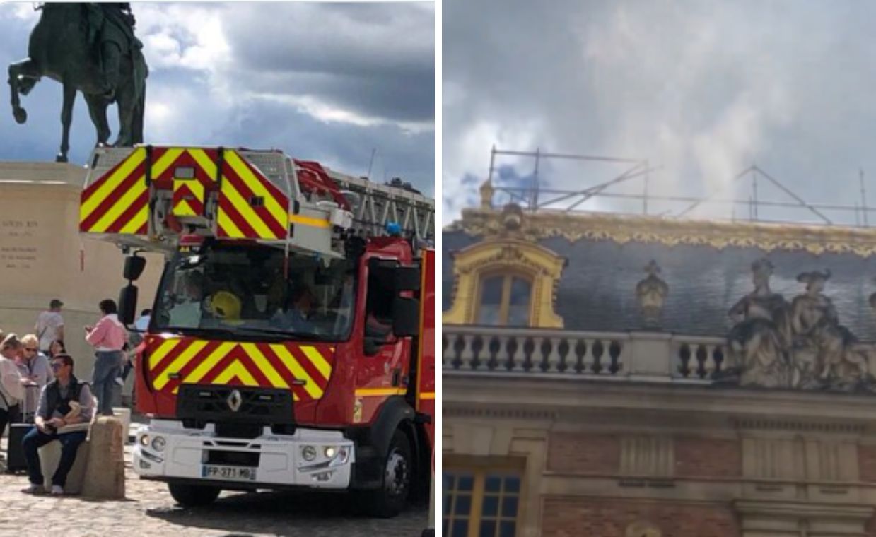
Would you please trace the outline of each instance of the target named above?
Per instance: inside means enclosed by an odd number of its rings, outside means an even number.
[[[626,537],[627,526],[646,521],[663,537],[739,537],[730,505],[696,505],[594,498],[546,498],[542,537]]]

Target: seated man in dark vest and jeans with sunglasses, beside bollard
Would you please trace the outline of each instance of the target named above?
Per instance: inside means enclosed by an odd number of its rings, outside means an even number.
[[[73,468],[79,445],[85,442],[86,430],[64,432],[62,427],[88,423],[94,413],[94,399],[87,384],[73,376],[73,358],[60,354],[52,358],[55,379],[43,388],[35,418],[36,427],[25,435],[22,445],[27,459],[31,484],[22,492],[36,494],[43,491],[43,474],[39,463],[42,446],[55,440],[61,443],[60,463],[52,477],[52,494],[64,493],[67,473]]]

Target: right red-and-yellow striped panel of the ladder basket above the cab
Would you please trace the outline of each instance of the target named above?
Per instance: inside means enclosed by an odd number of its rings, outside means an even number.
[[[236,151],[223,155],[217,233],[230,238],[286,238],[289,201]],[[253,198],[262,204],[253,207]]]

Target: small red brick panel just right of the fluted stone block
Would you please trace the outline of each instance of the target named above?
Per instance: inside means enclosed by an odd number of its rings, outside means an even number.
[[[742,448],[738,440],[680,436],[675,438],[675,476],[739,477]]]

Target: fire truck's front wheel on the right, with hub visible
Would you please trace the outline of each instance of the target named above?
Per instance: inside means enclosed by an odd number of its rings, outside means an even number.
[[[411,491],[413,456],[411,444],[401,431],[392,435],[392,443],[383,467],[383,485],[377,491],[364,495],[365,506],[371,516],[389,519],[405,508]]]

